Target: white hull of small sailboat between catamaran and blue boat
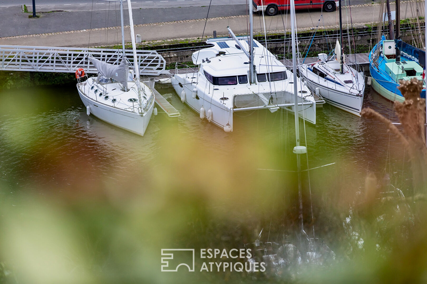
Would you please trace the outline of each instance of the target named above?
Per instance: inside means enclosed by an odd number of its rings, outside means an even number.
[[[363,95],[350,95],[345,92],[329,89],[319,83],[308,80],[307,78],[305,83],[312,92],[316,92],[316,88],[319,88],[320,95],[325,99],[325,102],[360,117],[360,111],[362,110],[363,104]],[[363,87],[361,93],[364,94],[364,92],[365,87]]]

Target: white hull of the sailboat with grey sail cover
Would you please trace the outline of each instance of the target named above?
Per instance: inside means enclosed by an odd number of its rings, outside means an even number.
[[[79,88],[77,88],[77,90],[79,92],[82,103],[86,108],[89,106],[89,111],[92,115],[114,126],[133,132],[137,135],[144,136],[153,112],[154,100],[152,100],[148,112],[146,112],[145,115],[140,116],[135,112],[128,112],[125,110],[113,108],[98,101],[92,100],[83,94]]]

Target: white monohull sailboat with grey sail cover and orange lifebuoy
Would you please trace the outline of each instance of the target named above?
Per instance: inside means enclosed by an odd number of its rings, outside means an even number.
[[[129,22],[134,56],[134,72],[129,71],[125,57],[123,28],[123,0],[120,0],[123,57],[119,65],[102,62],[89,57],[98,70],[98,77],[88,78],[83,69],[76,72],[77,91],[86,106],[87,114],[122,129],[143,136],[154,108],[154,94],[145,83],[140,82],[135,47],[131,1],[128,2]],[[82,72],[83,71],[83,72]],[[83,80],[85,79],[86,80]]]

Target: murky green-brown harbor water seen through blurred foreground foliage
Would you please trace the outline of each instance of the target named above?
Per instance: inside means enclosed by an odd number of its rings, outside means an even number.
[[[336,257],[286,273],[200,272],[196,258],[195,272],[162,273],[161,249],[241,249],[261,229],[261,242],[297,245],[299,204],[292,113],[235,113],[225,133],[172,87],[158,91],[181,116],[158,107],[144,137],[88,117],[75,85],[0,91],[0,283],[330,283],[331,271],[337,283],[388,279],[384,265],[404,238],[391,228],[409,217],[363,209],[357,237],[343,222],[369,172],[383,191],[411,195],[410,162],[381,123],[328,104],[316,125],[300,120],[302,169],[335,163],[302,173],[303,217]],[[368,86],[364,106],[398,121]],[[387,214],[393,221],[373,225]],[[362,237],[366,247],[354,246]]]

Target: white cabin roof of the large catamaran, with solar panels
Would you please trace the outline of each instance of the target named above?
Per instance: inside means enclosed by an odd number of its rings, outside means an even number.
[[[242,38],[242,39],[240,39]],[[239,43],[249,51],[248,37],[240,37]],[[208,39],[212,47],[193,53],[201,69],[215,77],[246,75],[249,71],[249,58],[232,38]],[[209,59],[206,61],[206,57]],[[201,60],[205,62],[201,62]],[[210,61],[210,62],[209,62]],[[286,71],[286,67],[258,41],[254,40],[254,65],[257,74]]]

